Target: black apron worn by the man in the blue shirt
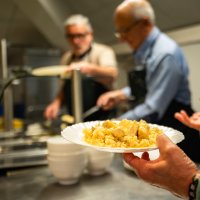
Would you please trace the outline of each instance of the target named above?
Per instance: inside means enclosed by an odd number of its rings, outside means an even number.
[[[146,69],[144,66],[135,67],[135,69],[128,73],[129,85],[131,93],[135,101],[132,104],[134,108],[140,103],[144,102],[146,96],[146,83],[145,83]],[[177,119],[174,114],[181,109],[185,110],[188,115],[194,113],[190,105],[184,105],[180,102],[173,100],[161,119],[158,119],[158,113],[151,113],[143,119],[149,123],[155,123],[163,126],[172,127],[181,131],[185,139],[178,144],[178,146],[189,156],[194,162],[200,162],[200,135],[199,132],[191,129]]]

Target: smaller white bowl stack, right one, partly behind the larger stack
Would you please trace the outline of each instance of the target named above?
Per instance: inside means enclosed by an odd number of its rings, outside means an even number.
[[[112,164],[113,158],[114,154],[111,152],[104,152],[89,148],[87,165],[88,173],[94,176],[105,174]]]

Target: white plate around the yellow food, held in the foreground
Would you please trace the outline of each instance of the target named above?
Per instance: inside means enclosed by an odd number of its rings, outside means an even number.
[[[84,123],[79,123],[79,124],[75,124],[72,126],[68,126],[61,132],[61,135],[70,142],[80,144],[83,146],[87,146],[87,147],[92,147],[97,150],[108,151],[108,152],[113,152],[113,153],[144,152],[144,151],[151,151],[151,150],[157,149],[156,146],[155,147],[145,147],[145,148],[113,148],[113,147],[99,147],[99,146],[94,146],[94,145],[86,143],[84,141],[83,129],[91,128],[99,123],[103,123],[103,121],[91,121],[91,122],[84,122]],[[180,131],[177,131],[173,128],[159,126],[156,124],[150,124],[150,126],[158,127],[159,129],[162,129],[163,132],[175,144],[184,140],[184,135]]]

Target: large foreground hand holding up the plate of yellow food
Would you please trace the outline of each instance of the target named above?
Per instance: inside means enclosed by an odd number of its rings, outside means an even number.
[[[124,160],[141,179],[175,195],[188,197],[189,184],[197,173],[195,164],[166,135],[158,136],[157,145],[160,156],[156,160],[150,161],[147,152],[141,158],[125,153]]]

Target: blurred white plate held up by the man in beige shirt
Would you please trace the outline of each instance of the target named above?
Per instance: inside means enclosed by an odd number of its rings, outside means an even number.
[[[65,75],[66,65],[38,67],[32,70],[34,76],[62,76]],[[66,75],[70,76],[70,74]]]

